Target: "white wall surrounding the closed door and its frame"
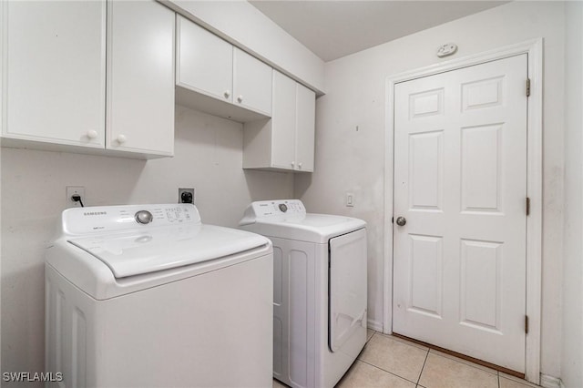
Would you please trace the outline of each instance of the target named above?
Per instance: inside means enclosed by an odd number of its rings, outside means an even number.
[[[461,57],[543,37],[541,372],[560,375],[564,21],[562,2],[513,2],[326,64],[327,94],[318,99],[316,110],[315,172],[296,177],[295,196],[310,211],[368,222],[369,318],[373,322],[383,321],[385,78],[440,62],[435,51],[444,43],[456,43],[455,57]],[[354,208],[344,207],[346,191],[355,194]]]

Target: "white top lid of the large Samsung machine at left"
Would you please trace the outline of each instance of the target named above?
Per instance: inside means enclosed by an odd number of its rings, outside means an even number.
[[[257,234],[212,225],[134,230],[67,241],[103,261],[116,278],[220,259],[269,244]]]

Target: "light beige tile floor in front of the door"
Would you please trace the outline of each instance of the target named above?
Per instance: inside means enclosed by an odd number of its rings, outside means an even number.
[[[273,380],[273,388],[285,385]],[[414,342],[368,331],[363,352],[336,388],[529,388],[528,383]]]

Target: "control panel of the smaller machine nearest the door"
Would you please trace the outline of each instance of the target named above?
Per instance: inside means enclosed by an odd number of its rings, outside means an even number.
[[[282,220],[285,218],[302,218],[306,208],[300,199],[275,199],[252,202],[240,220],[240,225],[247,225],[256,220]]]

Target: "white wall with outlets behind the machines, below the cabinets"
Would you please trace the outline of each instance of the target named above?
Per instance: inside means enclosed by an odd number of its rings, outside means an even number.
[[[291,173],[242,169],[239,123],[177,107],[175,148],[150,161],[2,148],[2,372],[44,370],[43,255],[67,185],[86,206],[175,203],[194,187],[203,222],[228,227],[251,200],[292,197]]]

